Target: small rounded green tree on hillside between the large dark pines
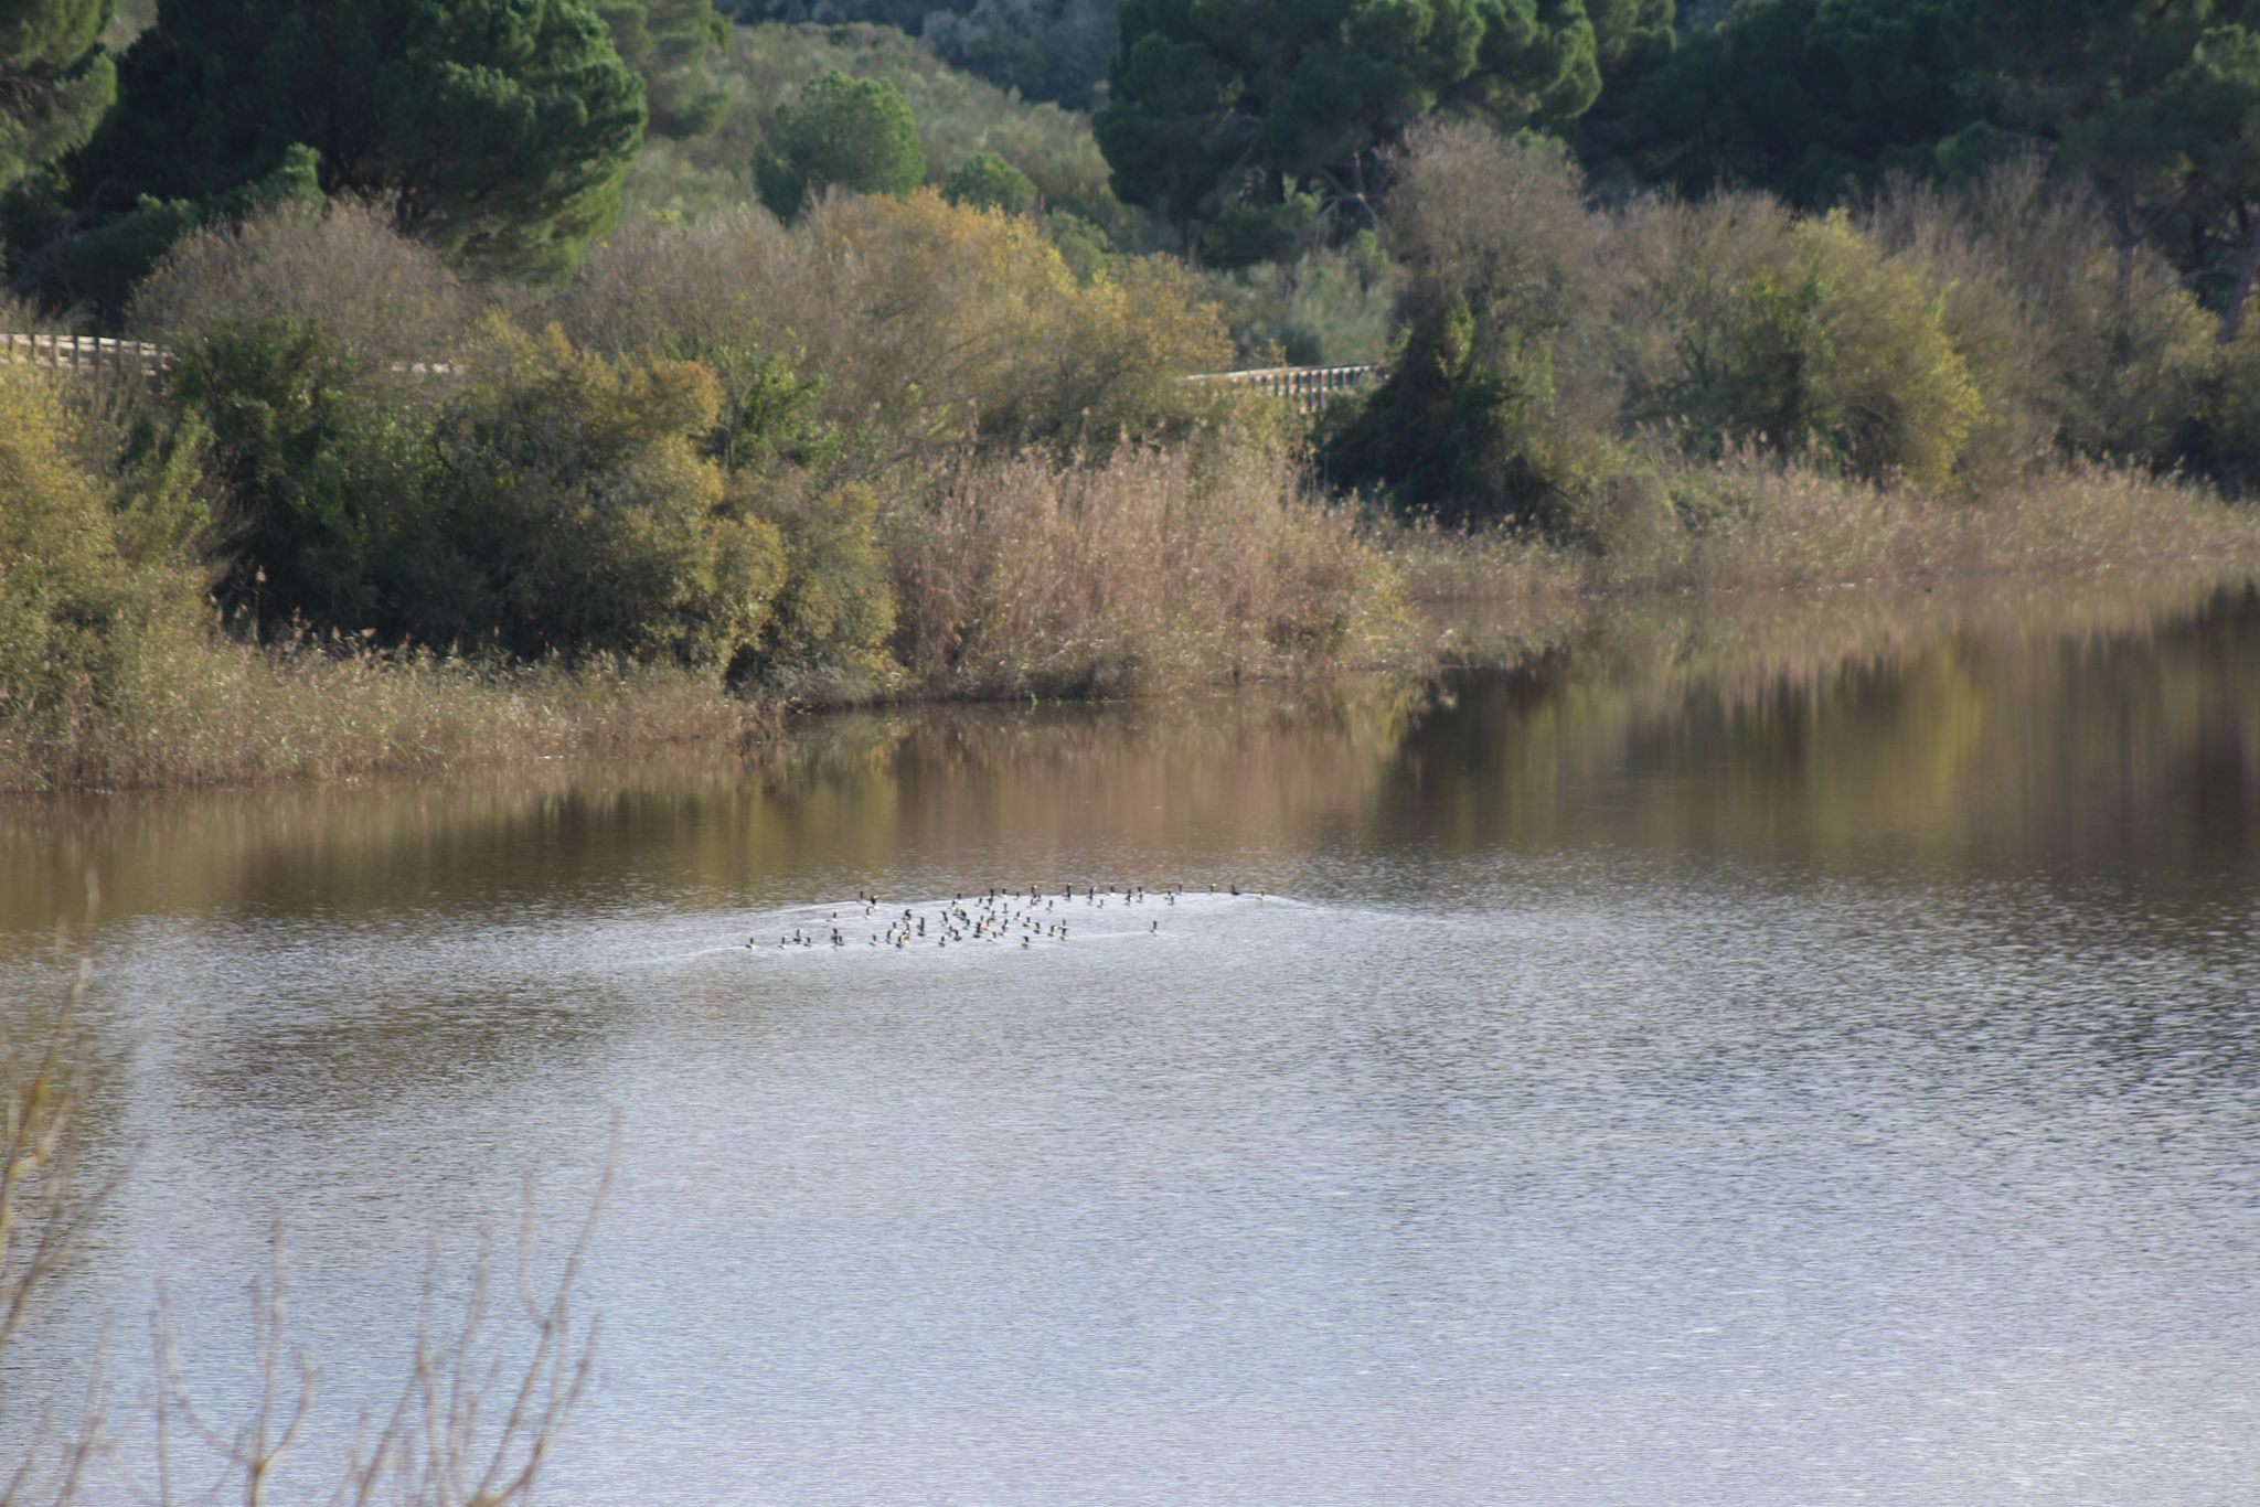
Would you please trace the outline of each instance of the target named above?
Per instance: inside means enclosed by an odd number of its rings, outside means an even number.
[[[927,154],[902,90],[834,68],[777,111],[755,154],[753,183],[777,219],[832,185],[859,194],[909,194],[927,181]]]

